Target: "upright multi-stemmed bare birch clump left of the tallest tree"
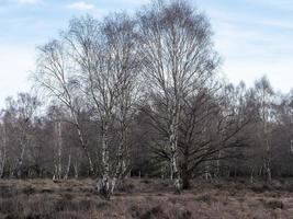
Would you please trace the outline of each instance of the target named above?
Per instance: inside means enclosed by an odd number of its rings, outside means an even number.
[[[102,180],[98,191],[110,198],[123,175],[127,152],[128,116],[136,92],[138,59],[135,50],[135,23],[125,14],[114,14],[103,23],[92,18],[72,20],[66,41],[77,64],[80,84],[100,124]],[[119,119],[120,143],[114,160],[110,157],[111,130]]]

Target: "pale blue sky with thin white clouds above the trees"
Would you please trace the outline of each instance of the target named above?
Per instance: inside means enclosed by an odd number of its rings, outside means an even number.
[[[266,74],[275,90],[293,88],[293,0],[190,0],[210,19],[221,72],[252,85]],[[149,0],[0,0],[0,106],[30,91],[36,47],[58,37],[74,16],[139,9]]]

